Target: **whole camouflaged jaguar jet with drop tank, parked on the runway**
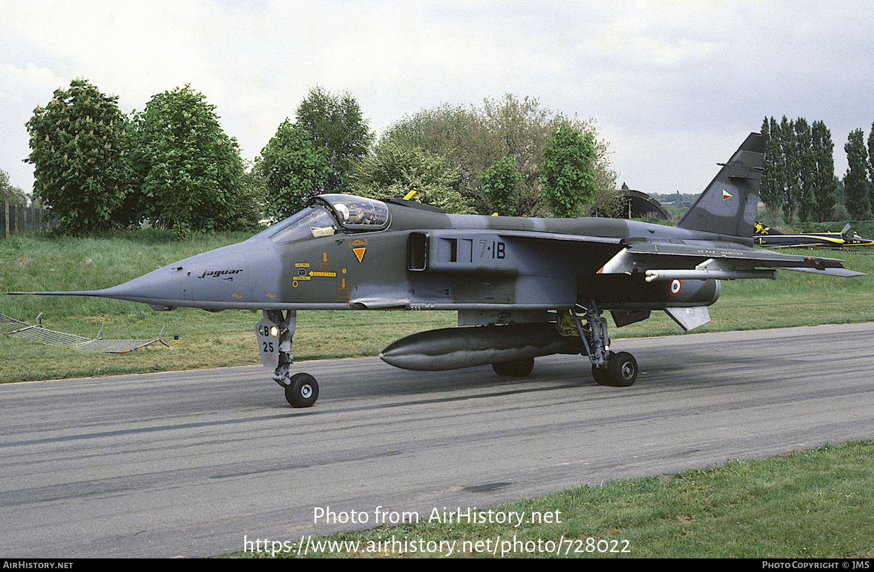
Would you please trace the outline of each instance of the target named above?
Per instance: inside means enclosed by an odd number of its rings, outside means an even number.
[[[617,327],[663,310],[684,329],[710,320],[722,279],[775,269],[856,276],[840,260],[753,248],[765,139],[750,134],[674,227],[609,218],[453,215],[406,199],[321,195],[238,245],[185,258],[121,286],[47,295],[133,300],[155,310],[260,310],[261,361],[288,403],[309,407],[318,383],[293,373],[298,310],[457,310],[458,327],[394,341],[394,366],[491,364],[527,376],[534,358],[587,355],[596,382],[629,386],[637,362],[614,353]]]

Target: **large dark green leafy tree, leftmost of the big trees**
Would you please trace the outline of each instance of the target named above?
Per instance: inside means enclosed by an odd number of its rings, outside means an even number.
[[[34,165],[34,194],[59,231],[81,234],[129,220],[128,118],[117,100],[74,79],[26,124],[31,155],[25,161]]]

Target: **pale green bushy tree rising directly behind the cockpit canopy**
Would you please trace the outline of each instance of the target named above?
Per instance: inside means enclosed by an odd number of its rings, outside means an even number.
[[[389,139],[380,141],[359,165],[356,190],[360,195],[377,199],[402,197],[415,191],[413,200],[465,214],[469,208],[456,189],[458,176],[458,170],[448,167],[440,155]]]

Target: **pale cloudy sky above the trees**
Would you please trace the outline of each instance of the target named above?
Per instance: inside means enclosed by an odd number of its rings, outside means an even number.
[[[804,117],[843,176],[847,135],[874,122],[872,16],[861,0],[4,0],[0,169],[31,191],[24,123],[87,79],[126,114],[190,84],[249,160],[323,86],[377,134],[443,103],[537,98],[594,118],[619,182],[646,192],[698,192],[765,117]]]

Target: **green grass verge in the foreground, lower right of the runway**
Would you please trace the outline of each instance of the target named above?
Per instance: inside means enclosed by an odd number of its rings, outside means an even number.
[[[451,549],[461,557],[870,559],[872,458],[872,443],[826,445],[492,507],[506,520],[522,513],[518,527],[423,515],[419,523],[305,539],[305,546],[316,558],[446,557]],[[228,556],[298,557],[293,541]]]

